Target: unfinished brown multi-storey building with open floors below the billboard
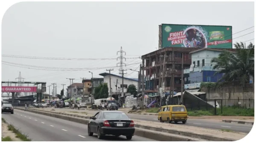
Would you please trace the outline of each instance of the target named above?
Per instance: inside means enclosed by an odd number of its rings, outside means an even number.
[[[145,93],[157,93],[159,87],[166,92],[181,89],[182,58],[183,69],[190,67],[189,52],[199,48],[166,47],[142,56],[145,59]],[[161,76],[160,78],[160,75]],[[172,81],[172,77],[174,81]],[[172,84],[174,82],[174,84]],[[164,85],[162,85],[164,83]]]

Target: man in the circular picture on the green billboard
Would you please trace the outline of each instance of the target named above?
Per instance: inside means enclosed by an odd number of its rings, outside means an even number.
[[[197,34],[198,33],[198,34]],[[195,29],[189,29],[185,39],[186,47],[205,48],[205,40],[203,34]],[[201,36],[200,36],[201,35]]]

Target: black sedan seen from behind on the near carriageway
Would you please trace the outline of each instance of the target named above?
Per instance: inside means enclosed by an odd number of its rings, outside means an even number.
[[[96,133],[99,139],[105,135],[124,135],[127,140],[131,140],[135,132],[134,121],[121,111],[100,111],[90,119],[88,135]]]

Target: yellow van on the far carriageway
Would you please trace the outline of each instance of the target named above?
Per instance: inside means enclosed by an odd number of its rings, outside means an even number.
[[[158,120],[160,122],[182,122],[186,123],[188,118],[188,112],[186,111],[186,107],[183,105],[169,105],[162,106],[160,111],[158,112]]]

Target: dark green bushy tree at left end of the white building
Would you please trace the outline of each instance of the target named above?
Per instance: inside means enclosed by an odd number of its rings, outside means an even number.
[[[101,98],[108,98],[108,84],[101,83],[98,87],[94,90],[94,98],[101,99]]]

